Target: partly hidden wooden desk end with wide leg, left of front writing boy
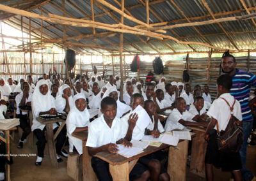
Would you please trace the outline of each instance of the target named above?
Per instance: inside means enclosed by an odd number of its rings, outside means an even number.
[[[72,136],[83,140],[83,181],[96,181],[97,176],[95,175],[91,164],[92,156],[88,154],[88,148],[86,147],[88,131],[72,133]]]

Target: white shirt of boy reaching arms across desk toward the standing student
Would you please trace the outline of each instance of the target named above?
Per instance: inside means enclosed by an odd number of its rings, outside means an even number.
[[[187,120],[193,122],[193,117],[191,113],[189,113],[187,110],[186,112],[182,112],[182,114],[177,110],[177,108],[172,110],[172,113],[168,116],[168,119],[166,120],[166,124],[164,126],[165,131],[172,131],[173,129],[184,129],[186,128],[182,124],[179,123],[180,119]]]

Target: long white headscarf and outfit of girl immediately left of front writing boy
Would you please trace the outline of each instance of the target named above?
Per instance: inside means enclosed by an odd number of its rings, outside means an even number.
[[[84,94],[79,93],[74,96],[74,102],[77,99],[86,100]],[[67,117],[67,135],[69,138],[69,148],[70,152],[73,151],[73,147],[76,147],[76,150],[79,154],[83,154],[83,143],[82,140],[72,136],[72,133],[75,131],[76,127],[86,127],[90,123],[90,114],[87,108],[83,112],[79,111],[76,105],[70,110]]]

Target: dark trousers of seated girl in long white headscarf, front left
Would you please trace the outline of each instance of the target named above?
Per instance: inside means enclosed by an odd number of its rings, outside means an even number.
[[[45,127],[43,130],[41,129],[35,129],[34,133],[37,138],[36,146],[37,146],[37,154],[39,157],[44,157],[44,148],[45,148]],[[58,127],[53,129],[53,133],[56,133]],[[63,127],[63,129],[60,131],[60,134],[56,138],[56,153],[60,154],[61,153],[61,148],[63,147],[63,144],[65,143],[66,140],[66,133],[67,133],[67,128]]]

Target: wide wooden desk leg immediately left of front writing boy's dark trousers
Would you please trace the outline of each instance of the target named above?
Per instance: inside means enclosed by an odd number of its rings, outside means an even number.
[[[92,156],[88,154],[88,148],[85,145],[86,141],[83,141],[83,181],[96,181],[97,176],[91,164]]]

